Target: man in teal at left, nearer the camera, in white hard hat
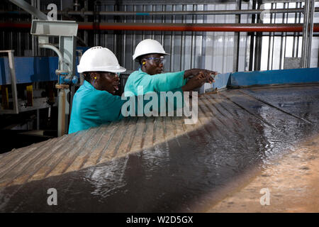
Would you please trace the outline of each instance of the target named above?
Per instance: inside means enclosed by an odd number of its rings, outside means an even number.
[[[77,71],[84,74],[84,84],[74,94],[69,133],[123,118],[121,108],[126,100],[114,94],[118,90],[118,74],[125,72],[125,68],[118,64],[113,52],[102,47],[86,50]],[[203,75],[198,75],[176,90],[190,91],[201,87],[206,80]]]

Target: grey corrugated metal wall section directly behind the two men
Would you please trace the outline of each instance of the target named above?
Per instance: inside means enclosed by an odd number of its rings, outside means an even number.
[[[231,10],[236,4],[127,4],[114,6],[108,1],[97,1],[96,11],[207,11]],[[247,3],[242,9],[251,9]],[[242,16],[242,23],[250,23],[251,16]],[[125,16],[121,22],[127,23],[235,23],[235,15],[228,16]],[[96,16],[95,21],[119,22],[117,18]],[[105,46],[117,53],[119,61],[128,70],[136,70],[138,64],[132,55],[138,43],[152,38],[162,43],[171,55],[165,63],[166,71],[179,71],[194,67],[205,67],[218,72],[233,71],[234,33],[226,32],[159,32],[122,31],[121,34],[100,31],[94,35],[94,45]],[[118,50],[121,49],[121,50]],[[247,66],[247,33],[240,35],[240,71]]]

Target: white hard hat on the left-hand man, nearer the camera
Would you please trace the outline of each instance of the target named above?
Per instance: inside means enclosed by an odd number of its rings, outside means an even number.
[[[86,50],[81,57],[77,72],[125,72],[118,64],[116,55],[108,48],[94,47]]]

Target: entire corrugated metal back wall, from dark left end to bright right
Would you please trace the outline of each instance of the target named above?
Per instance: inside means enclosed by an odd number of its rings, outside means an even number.
[[[47,4],[55,3],[58,9],[64,9],[65,2],[60,0],[32,0],[29,3],[40,3],[40,9],[45,10]],[[91,10],[95,11],[207,11],[207,10],[233,10],[235,2],[227,4],[163,4],[159,1],[150,1],[145,4],[141,1],[123,1],[114,4],[112,1],[94,1]],[[72,1],[69,1],[72,6]],[[315,5],[319,7],[319,2]],[[273,2],[264,4],[264,9],[282,9],[302,7],[301,1]],[[81,6],[81,7],[84,7]],[[242,1],[242,9],[252,9],[252,1]],[[9,1],[1,1],[0,10],[18,11],[17,6]],[[60,19],[61,17],[58,16]],[[216,16],[94,16],[96,22],[145,22],[145,23],[235,23],[235,15]],[[252,23],[252,15],[240,16],[240,23]],[[69,19],[76,19],[70,16]],[[78,18],[87,21],[88,18]],[[1,21],[30,21],[29,14],[0,14]],[[91,17],[89,18],[91,21]],[[256,20],[257,21],[257,20]],[[265,14],[263,23],[303,23],[302,13],[272,13]],[[319,22],[319,13],[315,13],[315,23]],[[235,33],[232,32],[169,32],[169,31],[86,31],[94,33],[94,38],[86,39],[84,31],[79,31],[89,47],[101,45],[109,48],[118,56],[121,65],[128,72],[136,70],[138,64],[133,62],[132,55],[135,46],[145,38],[153,38],[164,45],[164,49],[171,53],[165,64],[166,71],[185,70],[193,67],[205,67],[218,72],[233,72]],[[262,33],[262,45],[257,51],[252,40],[256,40],[256,33],[240,33],[240,51],[238,55],[238,71],[246,70],[277,70],[284,68],[284,57],[301,57],[302,33]],[[253,35],[253,36],[251,36]],[[311,67],[318,67],[318,33],[313,34]],[[252,37],[252,39],[251,39]],[[83,42],[79,42],[83,43]],[[3,30],[0,32],[1,50],[13,49],[16,56],[32,55],[33,40],[28,29]],[[33,52],[37,52],[34,51]],[[55,56],[52,50],[40,50],[37,55]],[[254,65],[255,56],[260,55],[260,67]]]

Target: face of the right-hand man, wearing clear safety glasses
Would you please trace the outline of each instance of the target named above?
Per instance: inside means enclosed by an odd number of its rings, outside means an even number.
[[[150,57],[155,57],[157,59],[147,59]],[[154,75],[159,74],[163,72],[164,63],[161,62],[159,59],[163,59],[164,55],[161,54],[150,54],[145,55],[142,58],[142,71],[146,72],[147,74]],[[145,65],[143,65],[143,62],[145,62]]]

